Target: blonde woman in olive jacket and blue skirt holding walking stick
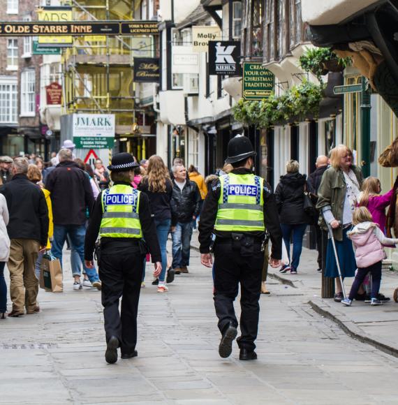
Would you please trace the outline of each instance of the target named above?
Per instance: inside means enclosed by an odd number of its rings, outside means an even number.
[[[332,227],[342,277],[354,277],[355,255],[347,233],[353,221],[353,211],[362,186],[362,172],[353,165],[353,152],[345,145],[337,145],[330,154],[331,167],[325,170],[318,189],[316,208],[322,212],[320,226]],[[343,290],[337,270],[332,240],[327,243],[325,277],[335,279],[334,301],[341,302]]]

